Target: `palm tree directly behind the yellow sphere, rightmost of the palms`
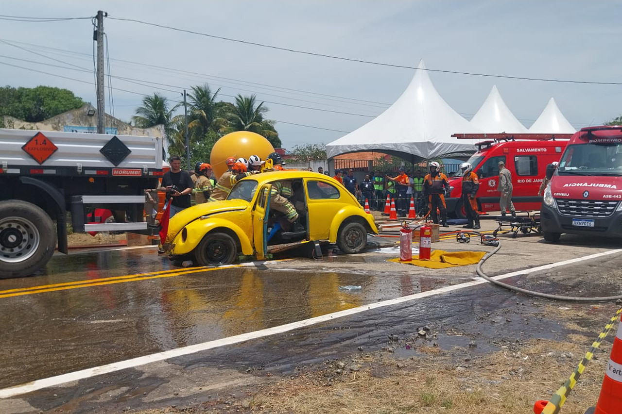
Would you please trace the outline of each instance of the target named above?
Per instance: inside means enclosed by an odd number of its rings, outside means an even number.
[[[250,131],[266,137],[272,146],[280,147],[279,133],[274,129],[274,121],[264,119],[268,108],[264,103],[257,104],[256,96],[238,95],[234,104],[228,104],[226,118],[229,121],[228,132]]]

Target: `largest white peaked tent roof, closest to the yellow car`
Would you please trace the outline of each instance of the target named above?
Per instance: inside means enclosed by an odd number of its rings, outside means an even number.
[[[327,144],[326,154],[332,158],[346,152],[377,150],[415,162],[475,152],[475,145],[451,137],[458,131],[481,132],[445,102],[421,60],[411,83],[394,104],[350,134]]]

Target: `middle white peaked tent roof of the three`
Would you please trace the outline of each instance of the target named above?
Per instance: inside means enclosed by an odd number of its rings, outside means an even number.
[[[493,85],[488,98],[471,118],[471,125],[481,129],[486,134],[527,132],[527,128],[516,119],[501,98],[496,85]]]

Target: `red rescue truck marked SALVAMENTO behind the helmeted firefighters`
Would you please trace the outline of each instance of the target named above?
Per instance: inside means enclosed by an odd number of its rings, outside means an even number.
[[[458,139],[485,139],[475,144],[477,152],[468,160],[480,177],[477,198],[480,211],[498,211],[499,161],[512,173],[512,201],[517,210],[537,210],[542,196],[538,189],[544,180],[546,166],[559,161],[572,134],[453,134]],[[449,178],[450,196],[447,211],[465,217],[462,205],[462,177]]]

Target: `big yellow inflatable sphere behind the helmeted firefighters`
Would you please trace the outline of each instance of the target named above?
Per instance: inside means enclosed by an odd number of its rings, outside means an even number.
[[[248,131],[236,131],[216,141],[211,149],[210,164],[216,179],[227,170],[226,160],[229,157],[248,160],[251,155],[257,155],[261,160],[274,152],[270,141],[259,134]]]

